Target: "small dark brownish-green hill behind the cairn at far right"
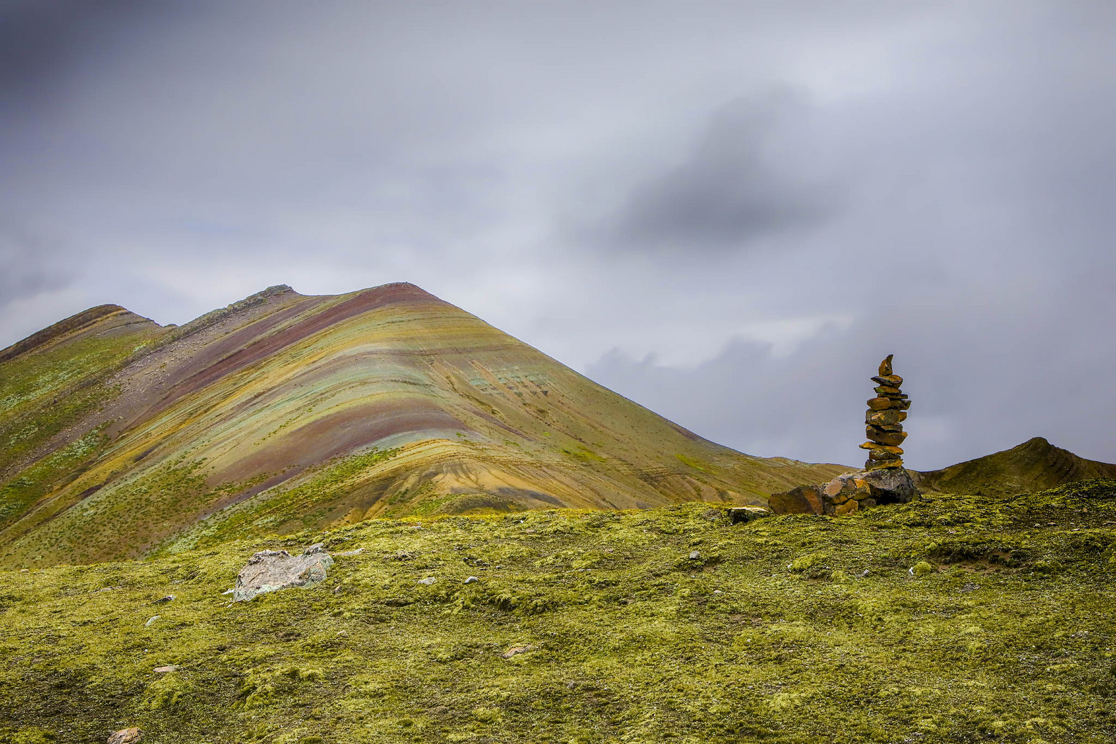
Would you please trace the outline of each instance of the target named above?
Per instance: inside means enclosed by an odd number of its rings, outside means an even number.
[[[1037,436],[1011,450],[912,475],[923,492],[1010,495],[1095,477],[1116,479],[1116,465],[1078,457]]]

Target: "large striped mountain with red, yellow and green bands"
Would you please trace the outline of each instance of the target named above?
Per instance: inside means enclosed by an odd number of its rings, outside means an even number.
[[[764,503],[845,471],[720,446],[407,283],[118,306],[0,351],[0,566],[373,516]]]

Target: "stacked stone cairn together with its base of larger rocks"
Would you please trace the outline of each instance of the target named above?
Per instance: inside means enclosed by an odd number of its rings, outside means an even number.
[[[868,441],[860,445],[868,451],[864,470],[841,473],[828,483],[800,485],[768,499],[771,511],[778,514],[852,514],[877,504],[906,503],[918,490],[911,474],[903,467],[906,438],[902,423],[911,400],[899,390],[903,378],[892,370],[892,356],[879,365],[876,397],[868,400],[865,428]]]

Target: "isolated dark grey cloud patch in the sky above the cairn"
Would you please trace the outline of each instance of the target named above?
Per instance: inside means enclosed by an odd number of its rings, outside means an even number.
[[[684,163],[635,189],[607,238],[625,250],[722,250],[818,224],[834,187],[801,172],[801,143],[788,136],[810,114],[790,91],[732,102]]]

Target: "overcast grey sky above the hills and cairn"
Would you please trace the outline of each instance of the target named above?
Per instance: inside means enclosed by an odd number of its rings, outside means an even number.
[[[411,281],[743,452],[1116,462],[1108,0],[0,0],[0,346]]]

